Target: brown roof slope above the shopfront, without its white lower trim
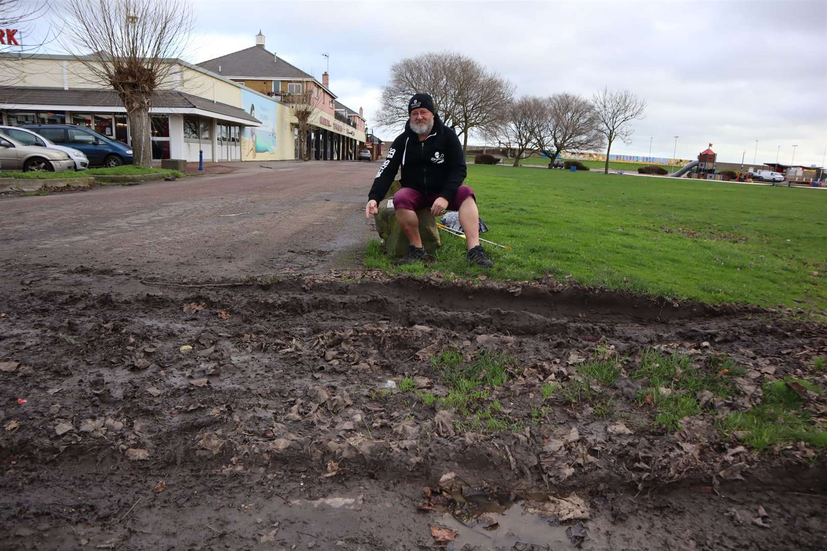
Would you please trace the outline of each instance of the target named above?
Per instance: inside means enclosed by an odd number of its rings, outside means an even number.
[[[70,88],[36,88],[27,86],[0,86],[0,103],[23,105],[77,105],[97,107],[123,107],[121,98],[114,90]],[[240,107],[227,103],[211,102],[203,97],[174,90],[158,90],[152,94],[152,107],[180,107],[203,109],[219,115],[233,116],[246,121],[261,122]]]

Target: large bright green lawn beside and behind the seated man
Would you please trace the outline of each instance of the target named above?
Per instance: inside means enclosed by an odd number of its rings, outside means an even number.
[[[571,274],[587,285],[827,319],[825,192],[482,165],[468,167],[466,183],[490,226],[483,237],[513,247],[484,244],[495,268],[467,264],[464,240],[447,234],[433,263],[394,268],[375,240],[366,266],[446,278]]]

